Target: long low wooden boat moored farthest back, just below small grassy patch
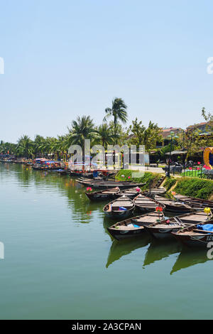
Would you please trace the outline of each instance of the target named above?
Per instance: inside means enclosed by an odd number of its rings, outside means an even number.
[[[84,178],[78,178],[76,180],[78,183],[84,185],[84,186],[89,186],[92,188],[97,188],[97,189],[107,189],[107,188],[115,188],[119,187],[120,189],[128,189],[128,188],[133,188],[133,187],[143,187],[146,183],[134,183],[134,182],[129,182],[129,181],[96,181],[92,179],[84,179]]]

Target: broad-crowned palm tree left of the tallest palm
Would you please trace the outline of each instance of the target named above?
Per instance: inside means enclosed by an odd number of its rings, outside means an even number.
[[[77,144],[82,147],[83,162],[84,162],[84,139],[95,139],[99,137],[98,131],[94,129],[93,120],[89,116],[77,117],[77,121],[72,121],[70,136],[72,144]]]

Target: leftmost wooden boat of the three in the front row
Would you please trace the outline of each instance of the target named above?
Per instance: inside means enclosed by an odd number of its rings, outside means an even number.
[[[137,237],[143,234],[144,226],[148,226],[156,222],[157,220],[163,220],[163,212],[150,212],[146,215],[132,217],[122,222],[116,222],[111,227],[107,227],[108,232],[112,237],[117,240],[126,239],[129,237]]]

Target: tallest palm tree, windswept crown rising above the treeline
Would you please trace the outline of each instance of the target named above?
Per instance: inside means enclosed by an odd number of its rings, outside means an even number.
[[[116,126],[118,125],[118,122],[121,121],[123,123],[127,122],[127,112],[126,112],[127,106],[124,103],[123,99],[120,99],[116,97],[114,100],[112,100],[112,107],[106,108],[106,116],[104,117],[104,122],[106,122],[107,118],[112,116],[114,117],[114,136],[116,136]]]

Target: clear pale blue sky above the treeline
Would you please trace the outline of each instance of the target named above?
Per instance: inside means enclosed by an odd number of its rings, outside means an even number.
[[[213,110],[212,1],[1,1],[0,139],[101,124],[122,97],[129,124],[202,122]]]

